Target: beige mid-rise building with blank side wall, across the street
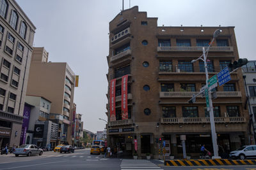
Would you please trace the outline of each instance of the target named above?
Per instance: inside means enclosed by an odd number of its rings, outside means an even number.
[[[49,120],[59,127],[57,144],[71,144],[75,74],[66,62],[47,61],[48,53],[44,47],[34,47],[27,95],[44,96],[52,102]]]

